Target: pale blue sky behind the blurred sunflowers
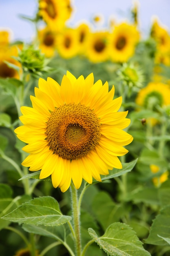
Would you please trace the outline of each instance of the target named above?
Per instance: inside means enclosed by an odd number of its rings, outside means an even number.
[[[102,14],[107,24],[109,16],[114,16],[118,22],[128,19],[133,0],[74,0],[73,3],[76,9],[71,24],[81,20],[91,21],[95,14]],[[153,15],[170,28],[170,0],[140,0],[139,3],[140,29],[144,35],[148,34]],[[13,40],[31,41],[33,25],[18,16],[33,17],[37,7],[38,0],[0,0],[0,28],[11,29]]]

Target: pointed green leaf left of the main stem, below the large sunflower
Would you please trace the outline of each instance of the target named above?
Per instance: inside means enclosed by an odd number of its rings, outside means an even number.
[[[31,225],[60,226],[71,220],[62,215],[58,202],[51,196],[34,198],[3,217],[5,220]]]

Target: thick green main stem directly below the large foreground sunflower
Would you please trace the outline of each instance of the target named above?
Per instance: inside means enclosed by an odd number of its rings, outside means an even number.
[[[71,183],[71,196],[72,196],[72,211],[73,211],[73,222],[74,222],[74,232],[75,232],[75,247],[77,256],[81,255],[81,234],[80,234],[80,219],[79,219],[79,209],[78,209],[78,196],[77,189],[74,184]]]

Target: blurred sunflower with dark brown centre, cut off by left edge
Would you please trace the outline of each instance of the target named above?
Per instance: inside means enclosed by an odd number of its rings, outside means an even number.
[[[15,45],[0,48],[0,77],[20,78],[21,64],[16,61],[13,56],[18,56],[18,49]],[[11,67],[9,67],[5,61],[11,63]],[[14,65],[13,67],[16,67],[16,69],[13,68],[12,65]]]

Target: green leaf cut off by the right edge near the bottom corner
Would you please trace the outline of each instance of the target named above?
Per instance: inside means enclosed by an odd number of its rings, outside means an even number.
[[[170,239],[170,205],[164,207],[157,215],[145,242],[151,245],[167,245],[164,238]]]

